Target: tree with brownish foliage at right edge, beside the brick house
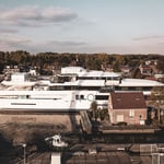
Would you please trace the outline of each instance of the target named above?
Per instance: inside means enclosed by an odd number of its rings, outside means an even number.
[[[164,86],[163,87],[154,87],[151,92],[151,95],[148,97],[148,105],[153,106],[157,109],[157,120],[159,122],[164,121]]]

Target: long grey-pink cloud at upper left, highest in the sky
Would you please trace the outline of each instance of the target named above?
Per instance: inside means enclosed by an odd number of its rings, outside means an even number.
[[[61,24],[78,19],[78,14],[67,8],[22,7],[0,11],[3,25],[39,26],[46,24]]]

